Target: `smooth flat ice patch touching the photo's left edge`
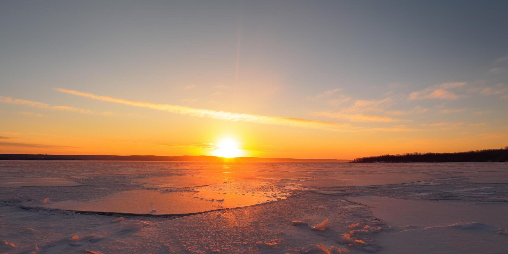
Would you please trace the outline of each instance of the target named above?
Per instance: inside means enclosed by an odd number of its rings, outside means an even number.
[[[78,186],[82,183],[61,177],[0,177],[0,187]]]

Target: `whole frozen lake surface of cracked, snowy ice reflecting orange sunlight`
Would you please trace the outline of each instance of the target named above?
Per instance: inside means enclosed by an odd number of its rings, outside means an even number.
[[[508,249],[504,163],[0,162],[0,170],[80,184],[0,188],[0,253]]]

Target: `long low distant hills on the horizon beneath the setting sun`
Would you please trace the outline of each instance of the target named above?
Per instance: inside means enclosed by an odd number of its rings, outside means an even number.
[[[158,155],[54,155],[3,153],[0,160],[13,161],[172,161],[172,162],[349,162],[335,159],[299,158],[224,158],[207,155],[158,156]]]

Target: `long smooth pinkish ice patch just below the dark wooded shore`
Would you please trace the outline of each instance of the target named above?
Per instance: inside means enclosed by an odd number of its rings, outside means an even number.
[[[311,179],[301,180],[300,183],[316,187],[335,187],[335,186],[369,186],[399,184],[406,182],[424,181],[447,176],[436,176],[431,174],[401,174],[401,173],[383,173],[383,174],[333,174],[327,176],[316,176]]]

